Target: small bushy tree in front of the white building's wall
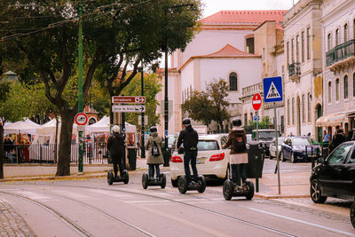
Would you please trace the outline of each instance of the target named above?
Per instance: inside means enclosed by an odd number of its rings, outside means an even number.
[[[226,109],[229,106],[229,102],[225,100],[227,96],[227,83],[221,79],[208,83],[206,91],[193,91],[190,99],[186,99],[181,108],[193,120],[203,122],[206,126],[211,121],[216,121],[223,127],[223,122],[230,118]]]

